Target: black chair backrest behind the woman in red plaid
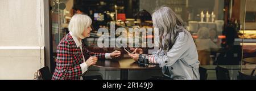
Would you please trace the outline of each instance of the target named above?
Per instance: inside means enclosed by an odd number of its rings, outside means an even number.
[[[49,71],[49,67],[43,67],[39,70],[39,75],[42,77],[42,80],[51,80],[52,74]]]

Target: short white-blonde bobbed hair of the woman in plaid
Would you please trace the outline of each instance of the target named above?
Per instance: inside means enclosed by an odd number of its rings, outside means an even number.
[[[68,29],[72,32],[72,36],[77,38],[85,38],[82,36],[84,29],[90,27],[92,19],[88,15],[76,14],[69,22]]]

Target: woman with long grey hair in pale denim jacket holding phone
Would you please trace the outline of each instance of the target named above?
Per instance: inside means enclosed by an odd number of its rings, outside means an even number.
[[[159,32],[159,50],[148,55],[149,63],[159,64],[164,76],[170,79],[198,80],[199,60],[195,42],[181,20],[169,7],[160,7],[152,14],[152,21]],[[130,54],[134,60],[142,50]]]

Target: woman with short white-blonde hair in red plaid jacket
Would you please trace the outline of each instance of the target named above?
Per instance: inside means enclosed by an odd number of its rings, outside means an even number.
[[[98,58],[115,58],[120,51],[113,53],[93,53],[88,51],[82,39],[90,36],[92,19],[87,15],[76,14],[69,23],[69,33],[57,46],[56,68],[53,80],[80,80],[88,67],[95,64]]]

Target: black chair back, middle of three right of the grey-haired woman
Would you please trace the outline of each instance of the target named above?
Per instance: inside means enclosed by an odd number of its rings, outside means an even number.
[[[220,66],[217,66],[215,70],[216,70],[217,80],[230,80],[229,70],[227,68],[222,68]]]

